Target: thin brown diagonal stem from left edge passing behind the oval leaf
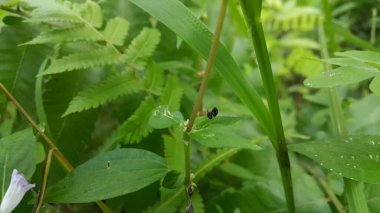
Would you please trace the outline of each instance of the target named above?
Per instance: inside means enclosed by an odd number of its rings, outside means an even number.
[[[54,150],[53,155],[58,160],[58,162],[62,165],[62,167],[68,172],[72,172],[74,167],[71,163],[65,158],[62,152],[58,149],[57,146],[50,140],[50,138],[41,130],[41,128],[37,125],[37,123],[33,120],[33,118],[26,112],[26,110],[21,106],[21,104],[13,97],[13,95],[5,88],[5,86],[0,83],[0,90],[8,97],[8,99],[15,105],[18,111],[26,118],[29,124],[38,132],[41,138],[46,142],[50,149]],[[102,209],[105,213],[110,213],[111,210],[105,205],[102,201],[96,201],[99,208]]]

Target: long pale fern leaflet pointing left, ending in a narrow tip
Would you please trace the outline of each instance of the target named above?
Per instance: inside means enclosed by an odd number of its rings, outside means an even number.
[[[100,67],[121,62],[121,56],[111,48],[94,50],[92,52],[74,53],[54,60],[43,75],[69,72],[91,67]]]

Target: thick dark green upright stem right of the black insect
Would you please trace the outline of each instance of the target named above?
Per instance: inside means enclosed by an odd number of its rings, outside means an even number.
[[[257,62],[263,80],[265,96],[268,101],[269,112],[272,115],[276,140],[272,144],[276,150],[277,161],[281,171],[282,183],[284,186],[285,197],[289,212],[295,212],[293,183],[290,173],[290,161],[288,148],[285,141],[284,129],[282,126],[280,107],[274,84],[272,67],[265,42],[263,27],[260,21],[261,0],[241,0],[241,7],[244,11],[245,19],[251,30],[253,46],[255,48]],[[259,8],[259,9],[257,9]]]

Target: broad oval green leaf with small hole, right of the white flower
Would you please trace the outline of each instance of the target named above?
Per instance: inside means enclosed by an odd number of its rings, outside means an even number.
[[[96,156],[75,168],[48,189],[46,200],[87,203],[135,192],[160,180],[165,160],[142,149],[118,149]]]

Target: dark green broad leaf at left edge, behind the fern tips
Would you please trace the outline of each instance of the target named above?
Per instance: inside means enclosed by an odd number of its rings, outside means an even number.
[[[35,30],[26,24],[3,27],[0,32],[0,82],[32,116],[36,111],[35,76],[46,55],[50,54],[46,46],[19,46],[35,35]],[[0,99],[2,97],[0,92]]]

